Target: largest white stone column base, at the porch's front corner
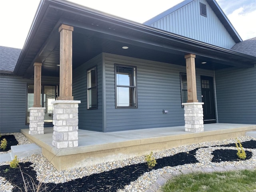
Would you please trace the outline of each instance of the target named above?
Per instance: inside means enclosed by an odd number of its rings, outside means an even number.
[[[78,104],[81,101],[53,101],[52,145],[58,149],[78,146]]]

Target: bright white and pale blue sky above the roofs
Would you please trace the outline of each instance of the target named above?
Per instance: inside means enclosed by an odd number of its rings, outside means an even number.
[[[69,0],[143,23],[182,0]],[[256,37],[256,0],[216,0],[242,40]],[[22,48],[40,0],[0,0],[0,46]]]

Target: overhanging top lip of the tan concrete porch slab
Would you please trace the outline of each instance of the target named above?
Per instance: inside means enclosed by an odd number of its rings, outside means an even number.
[[[135,140],[129,140],[129,141],[121,141],[121,142],[110,142],[110,143],[99,144],[99,145],[78,146],[76,148],[67,148],[67,149],[54,148],[50,144],[47,144],[43,140],[40,140],[40,135],[30,136],[28,134],[28,129],[22,129],[21,132],[31,142],[34,142],[41,147],[44,146],[44,148],[46,148],[48,151],[52,152],[56,156],[64,156],[64,155],[71,155],[71,154],[78,154],[78,153],[109,150],[109,149],[116,148],[116,146],[118,146],[118,148],[122,148],[122,147],[131,147],[131,146],[138,146],[138,145],[144,145],[144,144],[158,144],[163,142],[179,141],[179,140],[182,140],[182,143],[185,145],[186,140],[191,140],[191,139],[198,142],[210,141],[210,140],[212,141],[222,140],[225,138],[228,139],[228,138],[234,138],[236,136],[242,136],[242,135],[245,135],[246,132],[252,131],[252,130],[256,130],[256,125],[240,127],[240,128],[232,128],[232,129],[213,130],[213,131],[206,131],[206,132],[196,132],[196,133],[186,132],[186,134],[161,136],[161,137],[154,137],[154,138],[142,138],[142,139],[135,139]],[[239,133],[239,134],[236,134],[236,133]],[[205,138],[208,138],[209,136],[212,137],[212,139],[206,140]]]

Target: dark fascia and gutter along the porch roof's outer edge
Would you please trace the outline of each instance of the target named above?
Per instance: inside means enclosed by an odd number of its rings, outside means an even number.
[[[247,60],[250,60],[251,62],[256,62],[256,57],[253,56],[248,56],[246,54],[242,54],[236,51],[232,51],[232,50],[228,50],[228,49],[224,49],[224,48],[220,48],[217,46],[212,46],[210,44],[206,44],[203,42],[199,42],[196,40],[192,40],[190,38],[186,38],[183,36],[179,36],[176,34],[172,34],[170,32],[166,32],[163,30],[158,30],[156,28],[152,28],[150,26],[144,25],[144,24],[140,24],[137,22],[133,22],[133,21],[129,21],[129,20],[125,20],[116,16],[112,16],[109,14],[105,14],[96,10],[92,10],[90,8],[86,8],[84,6],[80,6],[77,4],[72,4],[70,2],[66,2],[66,1],[60,1],[60,0],[42,0],[40,2],[40,5],[38,7],[38,10],[36,12],[36,16],[34,18],[34,21],[32,23],[32,26],[30,28],[30,32],[28,34],[28,37],[26,39],[26,42],[24,44],[24,48],[22,49],[22,52],[20,54],[20,57],[18,59],[17,65],[14,69],[14,73],[15,74],[19,74],[19,69],[20,66],[24,60],[24,58],[26,57],[26,53],[28,51],[28,48],[30,47],[31,43],[32,43],[32,39],[34,38],[36,31],[38,30],[38,27],[40,26],[40,22],[42,21],[42,19],[44,18],[44,14],[49,6],[49,4],[54,3],[54,5],[56,5],[56,3],[58,4],[58,6],[60,7],[64,7],[66,11],[68,12],[73,12],[75,14],[81,14],[83,13],[85,16],[89,16],[90,14],[93,15],[94,19],[97,20],[101,20],[102,22],[111,22],[116,24],[119,27],[126,27],[126,28],[130,28],[130,30],[136,30],[136,31],[140,31],[140,32],[144,32],[153,36],[157,36],[158,38],[166,38],[169,40],[174,40],[174,41],[178,41],[180,43],[183,44],[187,44],[191,46],[197,46],[200,48],[206,48],[208,50],[211,50],[213,52],[221,52],[221,53],[225,53],[225,54],[234,54],[236,56],[240,56],[242,58],[246,58]],[[78,13],[76,11],[78,11]],[[191,52],[193,49],[191,49]],[[32,62],[32,61],[31,61]],[[20,74],[22,75],[22,74]]]

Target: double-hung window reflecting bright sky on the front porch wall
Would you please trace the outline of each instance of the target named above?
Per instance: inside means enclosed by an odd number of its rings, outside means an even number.
[[[137,108],[136,67],[115,65],[116,108]]]

